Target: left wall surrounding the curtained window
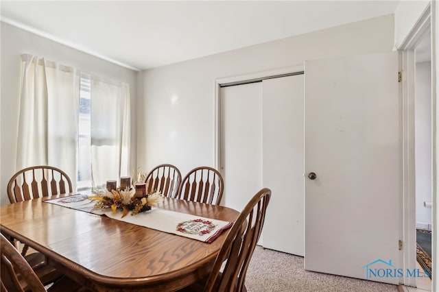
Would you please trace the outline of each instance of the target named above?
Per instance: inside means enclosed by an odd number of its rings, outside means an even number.
[[[110,80],[128,82],[132,106],[132,137],[131,158],[132,169],[136,165],[137,151],[137,72],[112,64],[105,60],[95,58],[58,42],[48,40],[23,29],[1,23],[1,172],[0,172],[0,204],[9,204],[5,192],[10,177],[15,173],[16,137],[18,131],[19,115],[19,88],[21,54],[29,53],[45,57],[67,66],[73,66],[81,71]]]

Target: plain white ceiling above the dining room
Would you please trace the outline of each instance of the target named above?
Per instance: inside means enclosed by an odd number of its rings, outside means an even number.
[[[399,1],[1,1],[1,21],[130,69],[395,12]]]

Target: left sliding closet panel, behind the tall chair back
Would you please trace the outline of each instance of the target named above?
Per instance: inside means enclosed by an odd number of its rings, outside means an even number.
[[[241,211],[262,188],[262,83],[221,88],[222,205]]]

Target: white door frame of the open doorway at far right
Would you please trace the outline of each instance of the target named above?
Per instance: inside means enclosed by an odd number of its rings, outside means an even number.
[[[414,269],[416,267],[416,188],[415,188],[415,144],[414,144],[414,99],[415,99],[415,60],[414,49],[427,32],[431,32],[431,4],[420,16],[410,33],[398,48],[399,61],[402,72],[401,97],[403,101],[403,205],[401,210],[401,236],[403,241],[403,268]],[[432,64],[433,65],[433,64]],[[431,84],[433,86],[433,84]],[[433,88],[431,88],[433,90]],[[431,123],[436,119],[435,108]],[[432,125],[433,127],[434,125]],[[435,139],[432,136],[434,143]],[[436,160],[434,152],[432,160]],[[433,169],[433,175],[434,169]],[[435,258],[432,265],[436,267]],[[404,277],[405,286],[416,287],[416,279]]]

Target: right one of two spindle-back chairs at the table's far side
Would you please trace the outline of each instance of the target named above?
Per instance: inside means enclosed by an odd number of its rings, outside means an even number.
[[[176,198],[219,205],[224,191],[221,173],[212,167],[195,167],[183,178]]]

